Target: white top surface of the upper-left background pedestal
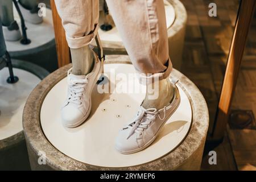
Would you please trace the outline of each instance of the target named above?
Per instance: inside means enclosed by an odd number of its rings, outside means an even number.
[[[14,19],[19,24],[19,30],[22,32],[22,28],[20,25],[19,15],[13,7],[14,10]],[[27,27],[27,38],[31,40],[30,44],[23,45],[20,43],[20,40],[11,42],[6,41],[7,51],[15,52],[15,51],[25,51],[28,49],[37,48],[43,46],[44,44],[50,42],[55,38],[54,30],[53,30],[53,22],[52,22],[52,11],[50,9],[46,9],[46,16],[43,17],[43,22],[40,24],[32,24],[29,22],[25,22]]]

